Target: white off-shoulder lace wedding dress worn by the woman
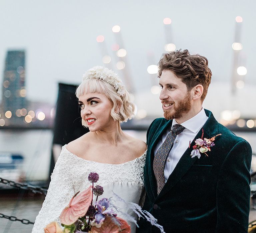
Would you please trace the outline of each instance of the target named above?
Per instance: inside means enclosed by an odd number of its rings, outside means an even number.
[[[104,193],[99,196],[99,199],[113,196],[113,191],[128,202],[140,204],[144,193],[145,157],[146,152],[139,158],[122,164],[105,164],[82,159],[68,151],[64,145],[55,164],[49,189],[43,206],[36,217],[32,233],[43,233],[44,227],[48,223],[59,222],[61,211],[68,205],[73,195],[91,185],[88,181],[90,172],[99,174],[99,180],[96,184],[104,188]],[[118,207],[124,207],[122,211],[127,212],[122,202],[115,204]],[[129,214],[136,217],[134,213]],[[121,215],[117,216],[125,219]],[[130,224],[131,232],[135,232],[135,224]]]

